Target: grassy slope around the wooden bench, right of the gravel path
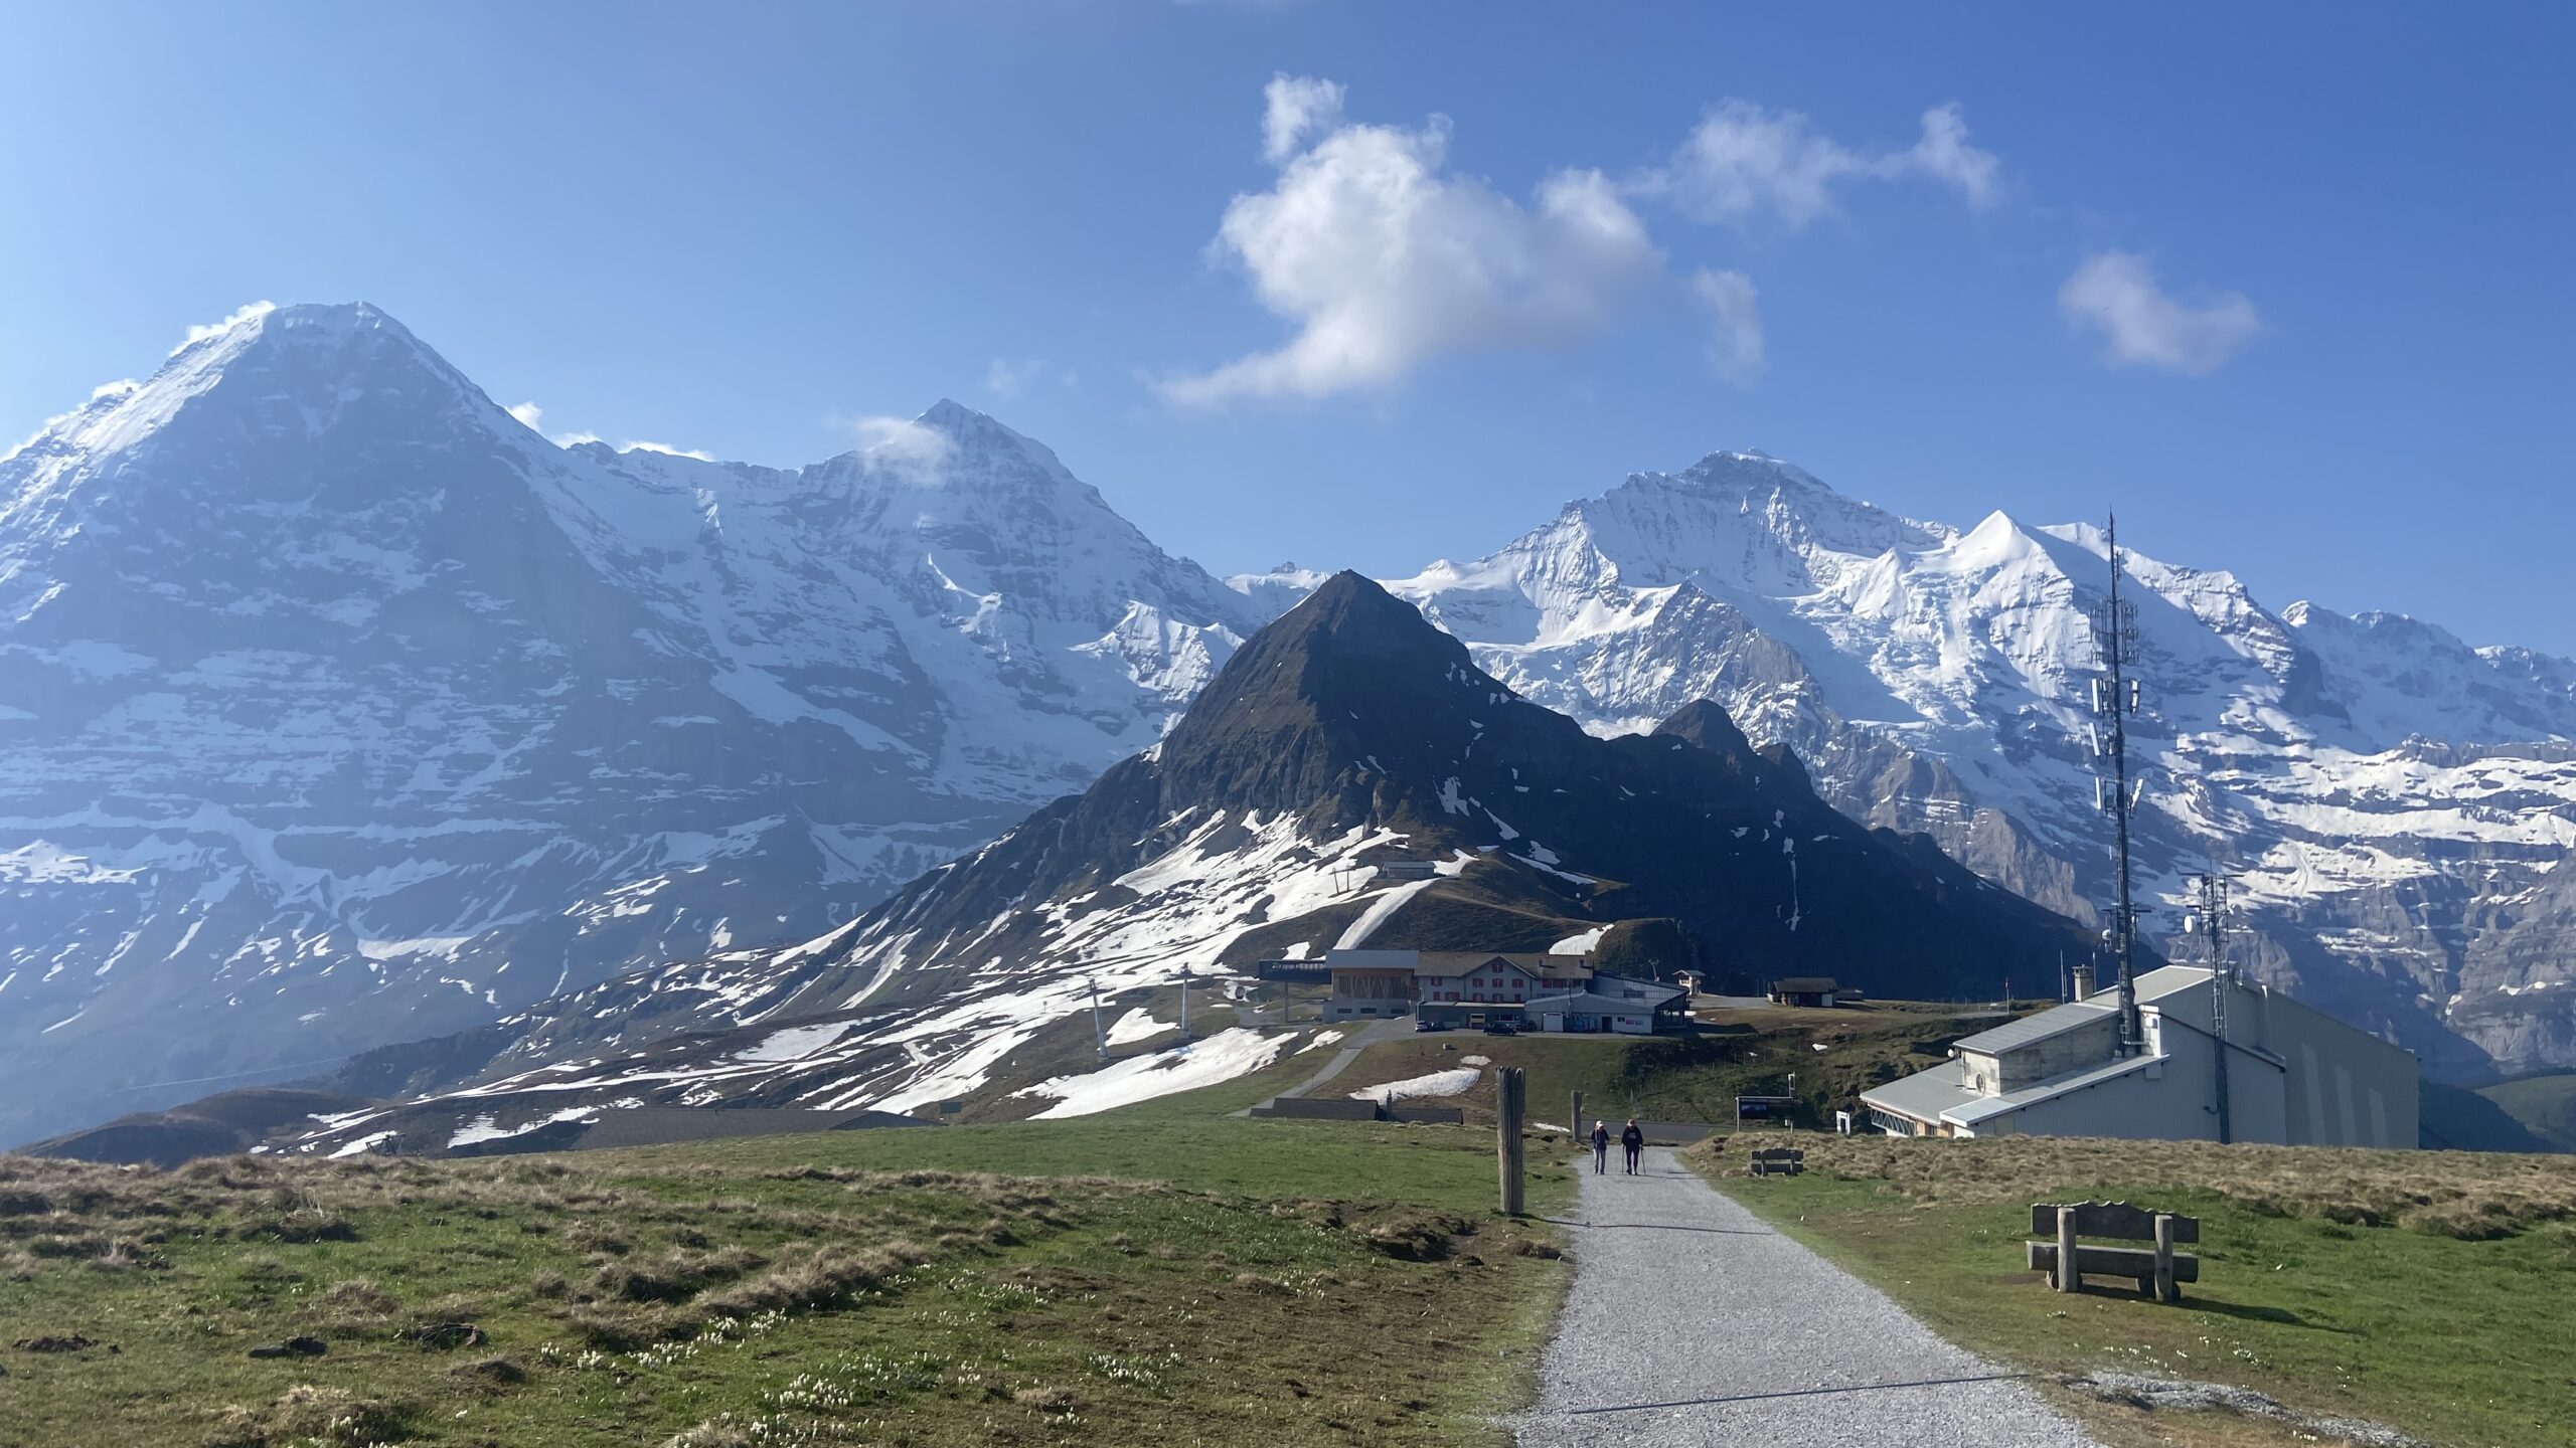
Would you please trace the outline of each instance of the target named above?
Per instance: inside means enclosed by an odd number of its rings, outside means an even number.
[[[1744,1177],[1744,1139],[1692,1159],[1968,1348],[2050,1373],[2246,1386],[2455,1448],[2576,1445],[2576,1159],[2030,1136],[1798,1144],[1803,1177]],[[2179,1306],[2048,1291],[2022,1270],[2030,1203],[2084,1198],[2200,1216],[2202,1281]],[[2290,1440],[2164,1420],[2154,1433]]]

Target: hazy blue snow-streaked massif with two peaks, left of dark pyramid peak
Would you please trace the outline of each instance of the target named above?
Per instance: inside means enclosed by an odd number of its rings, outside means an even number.
[[[363,304],[201,330],[0,459],[0,1144],[819,935],[1252,613],[953,402],[762,469]]]

